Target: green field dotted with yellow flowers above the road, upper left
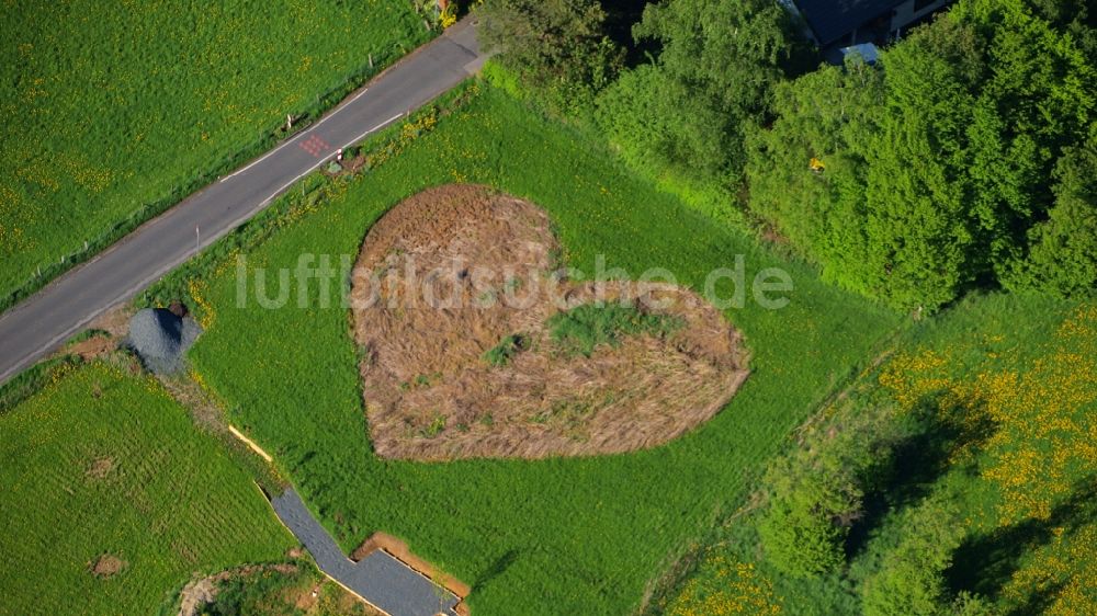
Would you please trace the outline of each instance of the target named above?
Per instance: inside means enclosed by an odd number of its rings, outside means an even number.
[[[0,20],[0,299],[430,36],[406,0],[8,1]]]

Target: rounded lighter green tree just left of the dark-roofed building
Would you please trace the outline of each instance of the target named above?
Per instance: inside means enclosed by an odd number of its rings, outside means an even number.
[[[651,3],[634,32],[661,50],[599,96],[610,140],[632,161],[738,186],[744,132],[793,53],[788,13],[768,0]]]

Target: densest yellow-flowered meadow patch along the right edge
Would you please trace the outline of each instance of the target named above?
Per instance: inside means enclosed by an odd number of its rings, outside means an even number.
[[[976,366],[969,376],[949,350],[923,350],[895,357],[880,384],[904,408],[928,401],[939,419],[961,429],[953,456],[977,461],[979,479],[997,493],[981,532],[1050,526],[1050,541],[1029,547],[1003,601],[1026,609],[1031,597],[1043,596],[1044,614],[1095,614],[1097,524],[1087,521],[1089,512],[1076,514],[1074,527],[1064,526],[1056,511],[1086,500],[1097,476],[1097,306],[1075,307],[1027,351],[1025,361]],[[984,365],[999,358],[986,351]]]

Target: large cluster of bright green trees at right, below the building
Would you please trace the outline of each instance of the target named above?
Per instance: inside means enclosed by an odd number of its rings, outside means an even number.
[[[750,208],[828,280],[896,307],[980,284],[1092,293],[1092,36],[1038,4],[960,2],[879,68],[778,85],[776,122],[748,138]]]

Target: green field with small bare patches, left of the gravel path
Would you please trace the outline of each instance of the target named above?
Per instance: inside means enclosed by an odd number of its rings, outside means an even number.
[[[127,368],[55,370],[0,434],[0,614],[152,614],[194,572],[296,545],[247,472]],[[121,571],[95,575],[104,556]]]

